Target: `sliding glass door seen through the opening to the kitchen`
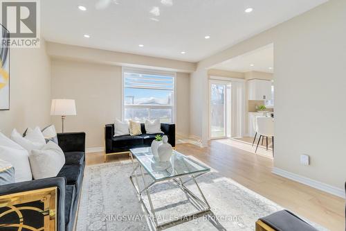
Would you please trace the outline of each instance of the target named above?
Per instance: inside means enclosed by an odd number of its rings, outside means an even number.
[[[228,135],[228,92],[229,84],[210,80],[209,125],[210,138],[222,138]]]

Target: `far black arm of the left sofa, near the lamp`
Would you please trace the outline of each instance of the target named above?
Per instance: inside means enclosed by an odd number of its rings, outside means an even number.
[[[64,153],[85,152],[85,132],[57,133],[57,142]]]

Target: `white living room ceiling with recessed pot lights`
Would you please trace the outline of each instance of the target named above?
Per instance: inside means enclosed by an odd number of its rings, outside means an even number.
[[[64,44],[197,62],[325,1],[44,0],[42,34]]]

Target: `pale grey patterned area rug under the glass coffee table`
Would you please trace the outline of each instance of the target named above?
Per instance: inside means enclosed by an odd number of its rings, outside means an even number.
[[[154,230],[129,180],[131,171],[131,162],[86,166],[77,230]],[[167,230],[255,230],[258,218],[282,209],[215,170],[197,179],[217,222],[201,217]],[[188,188],[199,195],[194,184]],[[151,190],[159,223],[197,211],[173,183],[160,183]]]

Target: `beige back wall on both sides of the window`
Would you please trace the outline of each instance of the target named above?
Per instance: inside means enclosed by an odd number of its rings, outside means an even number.
[[[176,74],[176,133],[190,134],[190,75]],[[86,132],[86,147],[103,145],[103,128],[121,119],[122,69],[72,60],[52,61],[52,97],[75,99],[77,116],[66,117],[66,131]],[[53,117],[61,130],[60,117]]]

